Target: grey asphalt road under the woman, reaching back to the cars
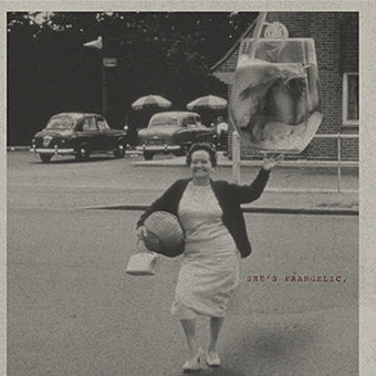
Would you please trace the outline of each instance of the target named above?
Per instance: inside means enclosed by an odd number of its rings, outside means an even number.
[[[179,259],[126,275],[140,212],[82,209],[132,189],[143,199],[187,174],[129,160],[8,158],[8,375],[180,374],[186,344],[169,314]],[[357,218],[246,221],[253,254],[221,333],[222,367],[201,375],[357,375]]]

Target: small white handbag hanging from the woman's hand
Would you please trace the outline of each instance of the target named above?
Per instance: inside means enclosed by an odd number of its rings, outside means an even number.
[[[125,272],[130,275],[154,275],[158,254],[146,250],[142,243],[138,241],[139,252],[129,258]]]

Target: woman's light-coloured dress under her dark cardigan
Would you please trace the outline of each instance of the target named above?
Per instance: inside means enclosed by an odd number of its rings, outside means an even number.
[[[196,314],[223,317],[239,284],[240,255],[211,186],[190,181],[178,216],[186,231],[186,248],[171,313],[180,320]]]

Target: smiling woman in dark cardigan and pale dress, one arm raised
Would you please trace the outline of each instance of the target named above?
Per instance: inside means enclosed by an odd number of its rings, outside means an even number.
[[[173,184],[137,222],[137,236],[147,231],[145,219],[156,210],[176,215],[186,232],[185,252],[171,313],[182,325],[189,358],[182,370],[200,369],[205,355],[209,366],[219,366],[217,341],[231,293],[239,284],[239,258],[251,253],[240,205],[258,199],[270,170],[283,158],[264,159],[249,186],[210,178],[217,166],[216,152],[207,144],[195,144],[188,152],[191,179]],[[198,314],[210,317],[210,343],[206,354],[198,347],[195,330]]]

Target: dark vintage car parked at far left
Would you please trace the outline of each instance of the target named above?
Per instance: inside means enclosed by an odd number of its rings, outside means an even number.
[[[76,160],[85,160],[91,154],[108,152],[123,158],[126,144],[127,128],[112,129],[102,115],[61,113],[35,134],[31,152],[38,153],[44,163],[54,155],[73,155]]]

